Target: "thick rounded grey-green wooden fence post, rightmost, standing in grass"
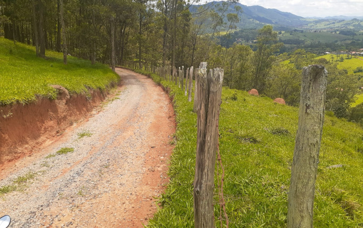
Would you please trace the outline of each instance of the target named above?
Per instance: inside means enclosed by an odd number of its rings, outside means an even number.
[[[327,71],[303,68],[298,129],[291,165],[287,228],[312,228],[314,192],[324,123]]]

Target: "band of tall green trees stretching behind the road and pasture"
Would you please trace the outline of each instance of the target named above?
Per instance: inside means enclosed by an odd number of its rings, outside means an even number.
[[[302,67],[320,63],[330,75],[327,111],[361,121],[351,116],[354,110],[350,104],[359,93],[362,73],[339,69],[337,61],[319,59],[312,54],[315,49],[309,48],[318,45],[321,51],[332,50],[327,44],[319,41],[286,48],[293,40],[287,39],[284,44],[282,32],[270,25],[237,32],[236,24],[243,9],[236,1],[199,8],[193,5],[196,3],[0,0],[0,36],[35,46],[40,57],[46,57],[46,50],[63,52],[65,62],[67,55],[113,67],[134,61],[139,67],[151,64],[187,68],[207,61],[212,68],[224,69],[225,86],[240,90],[255,88],[273,99],[284,98],[292,106],[299,102]],[[229,10],[231,7],[234,7],[233,13]],[[238,34],[246,40],[256,40],[250,45],[238,44],[234,42]],[[349,56],[344,59],[348,60]]]

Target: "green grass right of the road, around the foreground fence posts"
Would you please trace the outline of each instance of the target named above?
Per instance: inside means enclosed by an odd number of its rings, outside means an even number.
[[[180,88],[151,76],[174,97],[178,125],[169,168],[170,183],[148,227],[192,228],[197,117],[192,112],[192,102],[187,102]],[[231,99],[234,96],[236,100]],[[286,226],[297,122],[295,107],[223,88],[220,151],[226,169],[224,195],[230,228]],[[316,180],[314,227],[363,226],[362,137],[359,125],[326,116]],[[337,164],[344,166],[327,169]],[[214,201],[219,227],[217,193]]]

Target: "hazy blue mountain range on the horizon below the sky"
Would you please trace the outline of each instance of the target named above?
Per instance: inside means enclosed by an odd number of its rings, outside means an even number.
[[[212,1],[203,4],[204,7],[217,9],[221,7],[223,1]],[[275,30],[290,30],[291,28],[304,29],[363,29],[363,16],[346,17],[334,16],[326,18],[304,18],[292,13],[282,12],[277,9],[267,9],[259,5],[247,6],[240,3],[229,6],[225,13],[224,21],[227,22],[228,13],[236,13],[234,6],[242,7],[239,13],[240,21],[236,24],[237,28],[262,28],[264,25],[272,25]],[[189,9],[195,12],[201,5],[192,5]]]

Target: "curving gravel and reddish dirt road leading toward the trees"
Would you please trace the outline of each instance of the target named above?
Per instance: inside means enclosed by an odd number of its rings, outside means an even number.
[[[152,80],[116,72],[123,86],[101,111],[1,171],[0,187],[17,187],[0,196],[11,228],[141,228],[155,213],[154,197],[168,181],[174,111]],[[63,147],[74,151],[57,155]]]

